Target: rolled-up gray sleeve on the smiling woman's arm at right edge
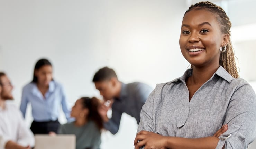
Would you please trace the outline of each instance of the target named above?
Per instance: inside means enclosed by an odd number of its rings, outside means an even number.
[[[216,149],[246,149],[256,132],[256,95],[249,84],[237,87],[229,102],[225,124],[228,130],[219,137]]]

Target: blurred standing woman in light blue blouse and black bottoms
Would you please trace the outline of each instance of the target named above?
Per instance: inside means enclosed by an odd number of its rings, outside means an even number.
[[[53,80],[52,64],[47,59],[37,61],[33,80],[23,87],[20,110],[25,117],[28,103],[32,107],[34,121],[30,129],[34,134],[57,132],[59,108],[70,121],[70,109],[61,84]]]

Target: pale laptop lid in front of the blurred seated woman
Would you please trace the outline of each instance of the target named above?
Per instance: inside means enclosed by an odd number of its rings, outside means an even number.
[[[75,149],[76,137],[74,134],[35,134],[34,149]]]

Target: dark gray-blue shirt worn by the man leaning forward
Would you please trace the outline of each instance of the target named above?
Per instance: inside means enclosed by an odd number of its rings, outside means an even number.
[[[116,134],[123,112],[134,117],[139,123],[141,108],[152,90],[152,87],[140,82],[122,83],[120,97],[114,99],[112,105],[112,117],[107,123],[104,123],[104,127],[112,134]]]

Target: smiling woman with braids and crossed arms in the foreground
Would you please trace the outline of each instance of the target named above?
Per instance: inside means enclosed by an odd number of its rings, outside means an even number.
[[[230,27],[224,10],[211,2],[189,7],[180,49],[192,67],[156,85],[141,110],[136,149],[237,149],[253,142],[256,95],[238,78]]]

